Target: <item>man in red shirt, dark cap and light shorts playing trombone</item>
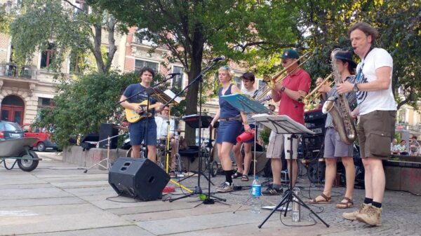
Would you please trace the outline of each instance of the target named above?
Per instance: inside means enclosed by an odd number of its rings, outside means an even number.
[[[289,116],[291,119],[304,125],[304,104],[300,101],[300,97],[305,97],[310,89],[312,79],[307,72],[299,67],[298,62],[299,55],[297,51],[293,49],[286,49],[283,51],[281,59],[283,67],[288,67],[286,72],[288,76],[281,81],[276,83],[275,88],[272,90],[272,98],[274,102],[279,102],[279,115]],[[297,161],[297,150],[298,150],[298,139],[293,139],[293,169],[290,169],[290,140],[288,139],[290,134],[276,134],[271,132],[269,137],[269,146],[267,146],[267,158],[272,158],[272,174],[274,181],[272,186],[269,186],[267,190],[263,191],[264,195],[279,195],[283,192],[281,186],[281,155],[285,150],[285,157],[288,162],[288,173],[290,174],[290,180],[295,185],[298,174]]]

